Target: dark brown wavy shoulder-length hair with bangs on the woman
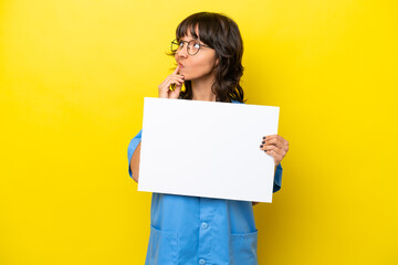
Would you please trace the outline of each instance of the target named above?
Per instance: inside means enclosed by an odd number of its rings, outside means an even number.
[[[198,26],[200,41],[214,49],[219,60],[214,67],[216,81],[211,86],[216,102],[230,103],[231,99],[245,102],[243,100],[243,88],[239,84],[244,68],[242,66],[243,41],[238,24],[222,13],[193,13],[179,23],[176,39],[186,36],[189,30],[192,38],[198,40],[196,26]],[[168,55],[175,56],[175,53],[171,52]],[[192,99],[191,81],[186,81],[184,85],[185,89],[181,89],[179,98]]]

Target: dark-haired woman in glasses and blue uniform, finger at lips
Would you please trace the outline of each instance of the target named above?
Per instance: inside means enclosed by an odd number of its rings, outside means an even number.
[[[239,84],[243,43],[235,22],[220,13],[195,13],[178,25],[176,38],[171,55],[177,67],[158,86],[159,97],[243,103]],[[129,174],[136,182],[142,132],[128,146]],[[259,151],[266,151],[277,165],[273,189],[276,192],[282,180],[280,162],[289,142],[271,135],[259,144]],[[255,203],[153,193],[146,264],[258,264],[252,206]]]

